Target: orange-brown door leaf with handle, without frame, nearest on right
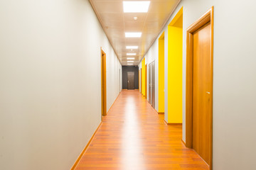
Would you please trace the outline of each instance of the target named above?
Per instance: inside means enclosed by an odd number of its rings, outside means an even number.
[[[193,33],[193,149],[210,163],[210,23]]]

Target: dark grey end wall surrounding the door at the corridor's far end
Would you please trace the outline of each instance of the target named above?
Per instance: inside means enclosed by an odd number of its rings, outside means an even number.
[[[137,66],[122,66],[122,89],[127,89],[127,72],[134,72],[134,89],[139,89],[139,67]]]

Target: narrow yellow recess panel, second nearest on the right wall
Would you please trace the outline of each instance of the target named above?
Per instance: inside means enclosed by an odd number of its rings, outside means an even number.
[[[159,113],[164,113],[164,33],[159,38]]]

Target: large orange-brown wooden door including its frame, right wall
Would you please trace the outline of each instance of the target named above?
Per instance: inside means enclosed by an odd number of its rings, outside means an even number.
[[[213,6],[186,30],[186,147],[213,169]]]

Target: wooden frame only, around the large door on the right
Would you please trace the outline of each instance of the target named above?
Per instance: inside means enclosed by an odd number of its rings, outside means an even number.
[[[213,6],[186,30],[186,147],[193,147],[193,33],[210,22],[210,79],[213,80]],[[213,81],[212,81],[213,82]],[[210,170],[213,169],[213,85],[210,87]]]

